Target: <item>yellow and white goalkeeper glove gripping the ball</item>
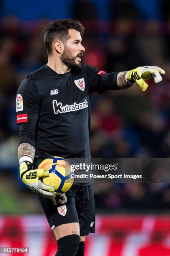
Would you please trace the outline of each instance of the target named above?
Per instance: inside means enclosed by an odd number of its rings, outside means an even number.
[[[20,177],[33,192],[37,192],[40,196],[50,199],[55,197],[55,187],[45,185],[39,179],[40,177],[49,177],[48,169],[32,170],[32,164],[29,161],[23,161],[20,164]]]

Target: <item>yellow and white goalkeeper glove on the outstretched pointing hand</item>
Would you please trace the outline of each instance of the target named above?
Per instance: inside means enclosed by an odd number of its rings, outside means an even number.
[[[162,77],[160,74],[165,74],[165,71],[160,67],[156,66],[144,66],[137,67],[136,69],[132,69],[125,74],[126,82],[129,84],[137,83],[138,86],[145,91],[148,88],[148,84],[145,80],[152,77],[155,83],[159,83],[162,81]]]

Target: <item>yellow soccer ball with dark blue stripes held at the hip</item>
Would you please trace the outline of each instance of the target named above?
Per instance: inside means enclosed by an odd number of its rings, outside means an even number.
[[[51,156],[43,160],[38,169],[46,168],[49,170],[49,177],[40,178],[41,182],[46,185],[51,185],[55,187],[56,195],[67,192],[74,178],[70,175],[72,174],[70,170],[70,163],[60,156]]]

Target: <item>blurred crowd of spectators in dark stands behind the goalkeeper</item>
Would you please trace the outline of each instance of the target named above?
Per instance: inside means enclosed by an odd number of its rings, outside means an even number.
[[[170,17],[163,21],[139,20],[131,1],[121,11],[121,1],[113,9],[112,21],[99,21],[94,6],[84,1],[84,12],[75,1],[74,18],[83,20],[86,32],[82,44],[83,62],[106,72],[120,72],[138,66],[160,66],[166,71],[163,82],[142,92],[137,85],[121,91],[92,95],[90,148],[94,158],[169,158],[170,157]],[[119,3],[119,4],[118,4]],[[124,0],[128,3],[128,0]],[[166,10],[164,1],[164,8]],[[132,6],[131,6],[132,5]],[[115,5],[116,6],[116,5]],[[86,17],[85,10],[90,10]],[[116,12],[116,10],[118,12]],[[118,15],[118,13],[120,15]],[[20,206],[18,188],[34,205],[33,196],[20,182],[18,171],[18,126],[15,96],[22,79],[47,63],[43,35],[49,19],[21,22],[15,15],[0,19],[0,202],[10,181],[13,195],[6,196]],[[7,176],[6,176],[7,174]],[[97,210],[169,209],[169,184],[112,184],[94,186]],[[1,193],[2,192],[2,193]],[[15,194],[16,192],[16,194]],[[4,195],[4,193],[3,193]],[[20,198],[22,196],[20,195]],[[32,198],[29,201],[29,198]],[[8,201],[9,202],[9,201]],[[23,203],[21,204],[23,205]],[[5,202],[0,211],[10,211]],[[13,204],[11,209],[15,211]],[[30,206],[31,209],[31,206]],[[30,210],[32,211],[32,210]]]

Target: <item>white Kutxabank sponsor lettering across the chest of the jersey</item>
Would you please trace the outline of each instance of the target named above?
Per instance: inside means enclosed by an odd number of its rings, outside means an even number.
[[[62,114],[62,113],[80,110],[83,108],[88,108],[87,100],[85,100],[84,102],[80,102],[80,103],[74,102],[74,104],[72,104],[72,105],[66,104],[65,106],[62,106],[61,102],[57,102],[57,100],[53,100],[52,104],[53,104],[53,109],[54,109],[55,114],[58,114],[58,113]]]

